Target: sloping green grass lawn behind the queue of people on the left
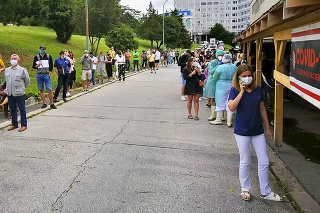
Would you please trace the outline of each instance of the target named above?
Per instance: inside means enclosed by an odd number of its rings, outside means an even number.
[[[137,38],[139,41],[138,51],[148,50],[150,48],[150,41]],[[21,65],[27,68],[31,85],[27,87],[26,96],[39,97],[39,92],[36,86],[35,70],[32,69],[33,58],[38,54],[39,46],[44,45],[47,48],[47,53],[53,57],[53,60],[59,57],[61,50],[72,50],[76,61],[79,61],[85,49],[86,38],[85,36],[73,35],[67,44],[59,43],[56,40],[56,34],[53,30],[46,27],[31,27],[31,26],[3,26],[0,24],[0,55],[6,66],[9,66],[9,57],[13,53],[19,54],[21,58]],[[155,43],[154,43],[155,45]],[[193,44],[191,49],[198,47],[199,44]],[[101,39],[99,51],[107,52],[109,47],[105,45],[104,39]],[[176,49],[183,52],[183,49]],[[98,51],[98,52],[99,52]],[[76,86],[81,85],[81,66],[76,64],[77,80]],[[2,81],[4,80],[3,73],[1,74]],[[57,85],[57,76],[55,73],[52,75],[53,88]]]

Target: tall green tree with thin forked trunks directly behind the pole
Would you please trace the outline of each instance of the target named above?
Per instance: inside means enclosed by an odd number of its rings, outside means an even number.
[[[86,25],[84,4],[77,8],[74,17],[76,30],[85,35]],[[89,1],[89,42],[90,51],[97,54],[100,40],[106,36],[113,27],[119,25],[122,10],[118,0],[90,0]]]

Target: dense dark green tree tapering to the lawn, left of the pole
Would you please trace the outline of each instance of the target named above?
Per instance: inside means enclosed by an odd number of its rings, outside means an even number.
[[[61,43],[67,43],[74,30],[73,0],[46,0],[49,7],[47,26],[56,32],[57,40]]]

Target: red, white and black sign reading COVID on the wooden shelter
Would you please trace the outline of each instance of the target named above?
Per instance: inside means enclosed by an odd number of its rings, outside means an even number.
[[[320,109],[320,23],[292,30],[291,90]]]

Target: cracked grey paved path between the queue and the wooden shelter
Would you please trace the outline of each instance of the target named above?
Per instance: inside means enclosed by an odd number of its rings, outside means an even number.
[[[295,212],[259,198],[254,156],[253,199],[240,199],[233,130],[209,125],[204,103],[187,119],[178,72],[139,73],[1,130],[0,212]]]

